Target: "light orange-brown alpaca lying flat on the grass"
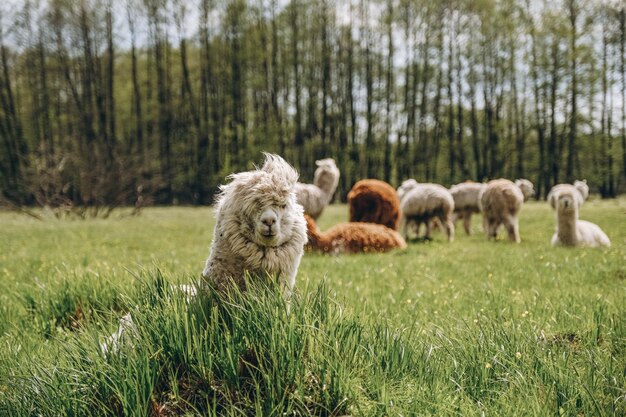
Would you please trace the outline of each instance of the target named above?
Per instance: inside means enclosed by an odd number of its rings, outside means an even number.
[[[374,223],[341,223],[320,232],[310,216],[305,215],[309,242],[307,248],[323,253],[386,252],[406,248],[395,230]]]

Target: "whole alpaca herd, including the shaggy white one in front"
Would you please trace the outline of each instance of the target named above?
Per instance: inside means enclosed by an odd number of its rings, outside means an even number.
[[[333,198],[339,169],[331,158],[316,161],[313,184],[297,182],[298,174],[277,155],[266,154],[262,168],[233,174],[220,188],[217,221],[203,277],[218,289],[228,282],[243,288],[246,274],[275,276],[288,298],[304,248],[329,254],[385,252],[406,248],[409,229],[429,238],[439,228],[454,240],[455,221],[471,234],[471,216],[483,215],[488,239],[504,227],[509,240],[520,243],[519,213],[535,193],[526,179],[495,179],[486,184],[466,181],[450,189],[407,179],[395,190],[376,179],[358,181],[348,193],[350,221],[322,232],[315,219]],[[556,211],[552,245],[609,246],[595,224],[578,219],[589,195],[586,181],[558,184],[548,195]],[[402,234],[398,230],[402,230]]]

